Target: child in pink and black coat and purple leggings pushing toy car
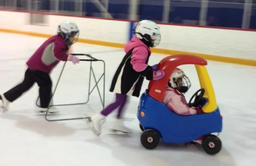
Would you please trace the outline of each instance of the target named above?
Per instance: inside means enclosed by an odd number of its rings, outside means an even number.
[[[156,47],[161,40],[160,27],[153,21],[142,20],[136,25],[133,33],[133,38],[124,47],[126,55],[112,79],[110,91],[116,95],[115,102],[87,120],[97,136],[101,135],[105,118],[117,108],[117,120],[112,130],[130,133],[131,130],[124,126],[122,121],[123,107],[128,96],[139,97],[144,77],[147,80],[160,80],[165,75],[164,71],[157,70],[156,65],[148,65],[150,47]]]

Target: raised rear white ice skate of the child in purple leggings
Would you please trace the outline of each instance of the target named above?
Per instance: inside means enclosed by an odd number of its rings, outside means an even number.
[[[101,135],[101,127],[105,121],[106,121],[106,116],[103,116],[101,113],[88,118],[89,126],[91,126],[92,131],[97,136]]]

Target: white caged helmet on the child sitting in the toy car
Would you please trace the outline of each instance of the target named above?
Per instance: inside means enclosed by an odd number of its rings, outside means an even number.
[[[168,86],[172,87],[172,88],[177,88],[178,87],[178,79],[181,78],[181,82],[182,82],[182,88],[184,89],[184,87],[186,87],[186,89],[188,90],[191,86],[191,82],[189,80],[189,78],[187,77],[187,75],[185,75],[184,71],[179,69],[179,68],[175,68],[173,70],[173,72],[171,73],[169,82],[168,82]],[[179,88],[181,88],[179,87]],[[181,93],[186,93],[187,91],[181,91]]]

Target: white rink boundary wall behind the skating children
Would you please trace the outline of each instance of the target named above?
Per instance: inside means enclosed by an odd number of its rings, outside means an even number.
[[[30,25],[30,13],[0,11],[0,29],[56,34],[58,24],[73,20],[80,38],[126,43],[130,22],[46,15],[47,25]],[[256,32],[190,26],[160,25],[162,40],[157,48],[256,60]]]

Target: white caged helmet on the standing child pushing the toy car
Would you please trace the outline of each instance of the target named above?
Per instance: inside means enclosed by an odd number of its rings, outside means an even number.
[[[159,45],[161,40],[160,27],[155,22],[150,20],[140,21],[134,27],[133,33],[139,39],[144,40],[150,47],[156,47]]]

